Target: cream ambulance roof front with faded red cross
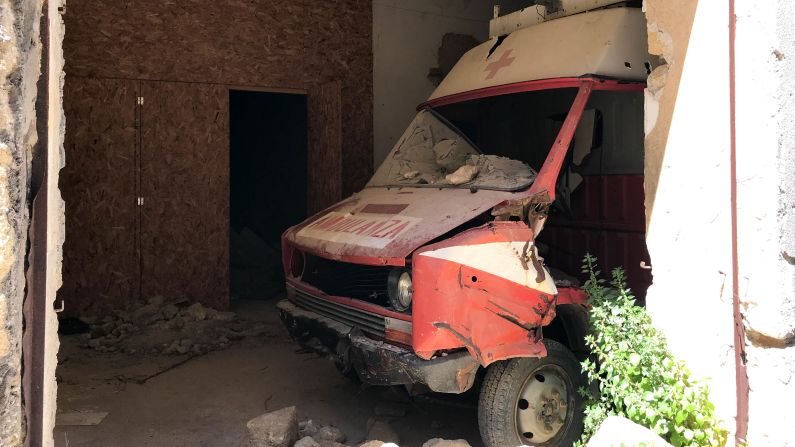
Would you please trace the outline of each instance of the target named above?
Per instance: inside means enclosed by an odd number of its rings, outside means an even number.
[[[655,61],[647,51],[646,18],[639,8],[583,12],[495,37],[469,50],[429,100],[583,75],[644,81]]]

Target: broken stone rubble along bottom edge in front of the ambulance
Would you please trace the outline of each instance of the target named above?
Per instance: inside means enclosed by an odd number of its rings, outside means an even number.
[[[241,447],[398,447],[400,438],[389,418],[405,416],[406,407],[377,406],[376,416],[367,421],[367,437],[359,442],[351,440],[339,428],[319,425],[311,419],[298,421],[295,407],[282,408],[251,419],[246,424],[246,437]],[[430,439],[423,447],[470,447],[463,439]]]

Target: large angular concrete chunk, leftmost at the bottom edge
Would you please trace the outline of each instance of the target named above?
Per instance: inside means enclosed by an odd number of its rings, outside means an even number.
[[[241,447],[292,447],[298,439],[298,413],[295,407],[257,416],[246,424]]]

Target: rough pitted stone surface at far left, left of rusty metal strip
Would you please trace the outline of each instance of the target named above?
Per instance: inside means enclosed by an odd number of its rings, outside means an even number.
[[[24,441],[22,304],[41,2],[0,0],[0,445]]]

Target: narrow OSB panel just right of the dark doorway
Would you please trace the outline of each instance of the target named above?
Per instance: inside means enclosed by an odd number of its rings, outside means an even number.
[[[342,84],[309,90],[307,208],[312,215],[342,198]]]

